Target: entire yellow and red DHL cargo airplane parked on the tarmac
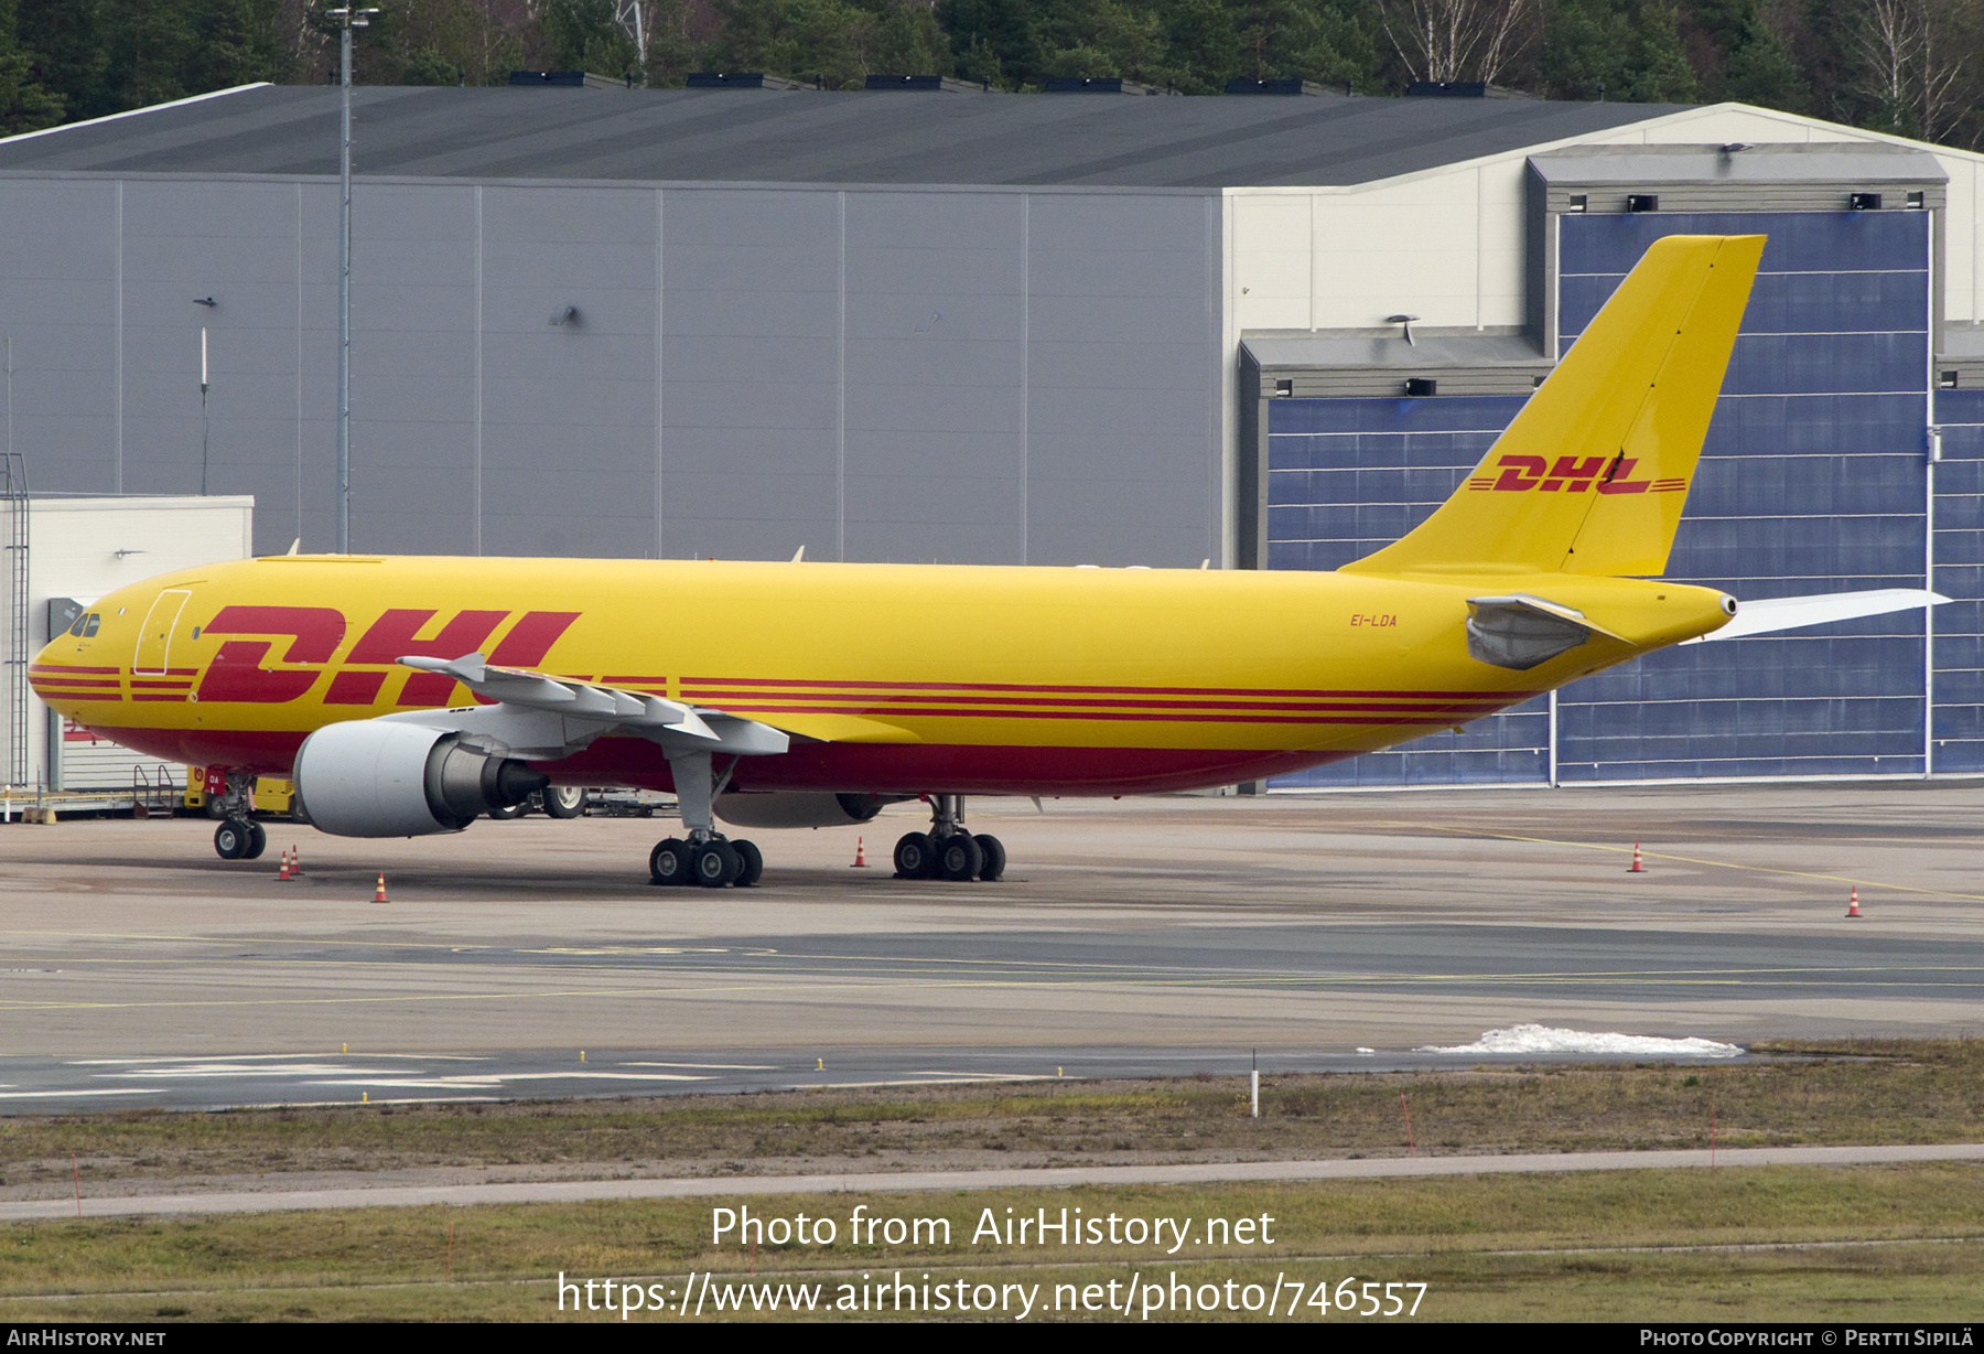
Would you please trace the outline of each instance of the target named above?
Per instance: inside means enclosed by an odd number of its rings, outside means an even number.
[[[1262,780],[1407,743],[1674,643],[1932,606],[1746,608],[1663,582],[1764,236],[1653,244],[1480,467],[1335,572],[270,556],[89,608],[50,707],[210,768],[222,858],[258,774],[355,838],[458,832],[548,786],[673,790],[653,883],[752,885],[740,828],[923,798],[903,878],[998,880],[964,798]]]

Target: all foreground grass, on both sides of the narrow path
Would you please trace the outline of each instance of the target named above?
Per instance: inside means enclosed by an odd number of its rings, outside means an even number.
[[[1226,1078],[22,1116],[0,1122],[0,1173],[30,1193],[62,1193],[69,1151],[79,1153],[85,1189],[155,1189],[216,1173],[264,1173],[280,1185],[286,1171],[327,1167],[712,1175],[823,1163],[1403,1155],[1401,1092],[1419,1150],[1442,1155],[1706,1146],[1710,1108],[1724,1146],[1984,1140],[1984,1044],[1758,1052],[1780,1060],[1268,1078],[1260,1120],[1246,1116],[1244,1084]],[[855,1205],[881,1217],[942,1217],[950,1233],[853,1247]],[[1133,1275],[1220,1292],[1234,1281],[1240,1296],[1278,1279],[1303,1285],[1305,1296],[1345,1277],[1425,1283],[1421,1320],[1968,1320],[1984,1290],[1980,1205],[1984,1165],[1913,1163],[42,1221],[0,1227],[0,1320],[556,1320],[559,1273],[679,1290],[686,1275],[706,1271],[730,1283],[819,1283],[829,1304],[841,1285],[857,1292],[863,1275],[962,1279],[1002,1292],[1040,1285],[1050,1310],[1030,1320],[1107,1320],[1055,1312],[1052,1294],[1111,1283],[1121,1290]],[[712,1211],[724,1207],[788,1219],[804,1211],[835,1219],[839,1231],[833,1245],[714,1245]],[[1178,1219],[1190,1241],[1167,1253],[1169,1243],[974,1237],[986,1209],[1002,1223],[1008,1207],[1012,1217],[1065,1207],[1091,1219]],[[1272,1245],[1202,1237],[1208,1217],[1264,1215],[1274,1219]],[[1302,1314],[1363,1320],[1307,1304]],[[565,1318],[617,1320],[593,1310]],[[635,1316],[645,1318],[657,1316]]]

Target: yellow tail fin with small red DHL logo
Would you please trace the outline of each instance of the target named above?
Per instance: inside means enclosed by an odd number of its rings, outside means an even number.
[[[1657,240],[1454,496],[1345,572],[1661,574],[1762,256]]]

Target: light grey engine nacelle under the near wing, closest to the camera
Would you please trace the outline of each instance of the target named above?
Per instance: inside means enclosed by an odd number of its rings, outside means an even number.
[[[458,733],[389,719],[315,731],[294,774],[310,822],[341,838],[460,832],[552,782],[526,762],[478,752]]]

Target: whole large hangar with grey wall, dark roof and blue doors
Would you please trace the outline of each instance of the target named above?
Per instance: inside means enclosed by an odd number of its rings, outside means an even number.
[[[1984,772],[1984,157],[1742,105],[1313,91],[355,105],[377,552],[1333,568],[1460,482],[1647,242],[1766,232],[1671,576],[1958,602],[1276,784]],[[0,141],[38,492],[196,492],[204,455],[256,550],[331,544],[335,171],[325,87]]]

